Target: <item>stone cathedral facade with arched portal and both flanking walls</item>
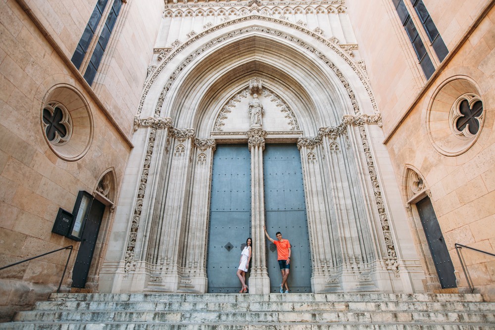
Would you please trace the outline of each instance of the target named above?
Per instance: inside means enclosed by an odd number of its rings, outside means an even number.
[[[66,290],[235,292],[252,237],[265,294],[266,226],[293,292],[493,297],[454,244],[494,252],[494,1],[68,2],[1,4],[5,264],[73,245]]]

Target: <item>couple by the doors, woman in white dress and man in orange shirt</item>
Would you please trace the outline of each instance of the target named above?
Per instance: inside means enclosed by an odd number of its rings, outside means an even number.
[[[263,226],[265,236],[277,247],[277,259],[282,273],[282,283],[280,283],[280,293],[289,293],[289,285],[287,284],[287,278],[289,277],[289,271],[291,268],[291,243],[288,239],[283,239],[282,234],[277,232],[275,236],[277,240],[272,239],[266,232],[266,227]],[[237,277],[241,281],[242,288],[239,293],[246,293],[249,289],[246,285],[246,272],[249,267],[252,255],[252,239],[251,237],[246,240],[246,247],[241,252],[241,260],[239,261],[239,268],[237,270]]]

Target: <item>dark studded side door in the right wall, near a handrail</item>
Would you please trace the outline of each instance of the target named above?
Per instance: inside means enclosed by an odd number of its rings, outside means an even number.
[[[435,268],[437,269],[440,284],[444,289],[456,287],[454,266],[430,198],[423,198],[416,203],[416,207],[425,231],[428,246],[430,247],[433,262],[435,263]]]

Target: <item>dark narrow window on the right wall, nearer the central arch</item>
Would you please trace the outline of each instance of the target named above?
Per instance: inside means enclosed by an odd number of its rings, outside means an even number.
[[[435,67],[433,66],[432,60],[430,59],[430,55],[426,51],[425,45],[421,40],[421,37],[418,34],[418,30],[416,30],[416,26],[407,11],[407,8],[404,4],[403,0],[392,0],[394,6],[396,7],[397,14],[399,15],[400,22],[407,32],[407,36],[411,41],[412,47],[414,47],[414,51],[416,52],[416,56],[418,56],[419,64],[423,69],[423,72],[426,76],[426,79],[429,79],[433,72],[435,71]]]

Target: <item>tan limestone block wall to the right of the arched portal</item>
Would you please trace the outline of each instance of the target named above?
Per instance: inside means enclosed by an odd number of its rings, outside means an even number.
[[[409,210],[411,231],[417,233],[416,249],[424,255],[423,268],[429,277],[437,276],[414,205],[418,201],[414,194],[422,198],[426,192],[432,200],[452,259],[459,291],[466,292],[469,288],[454,244],[495,251],[494,1],[453,1],[448,4],[424,1],[449,49],[449,55],[428,82],[418,79],[417,68],[410,65],[410,45],[401,42],[400,34],[404,30],[389,3],[392,1],[369,6],[362,5],[361,1],[348,2],[353,24],[376,22],[383,32],[376,34],[372,30],[355,29],[382,113],[385,143],[392,157],[396,180]],[[418,30],[421,29],[419,26]],[[384,45],[386,58],[375,51],[376,45]],[[391,78],[380,79],[383,73]],[[463,134],[455,128],[454,108],[462,97],[483,103],[483,115],[477,117],[480,129],[473,135]],[[421,188],[415,192],[411,192],[407,184],[408,168],[414,169],[421,178],[417,181]],[[493,300],[494,257],[467,249],[461,254],[475,290]],[[427,283],[427,286],[430,290],[440,290],[438,285]]]

